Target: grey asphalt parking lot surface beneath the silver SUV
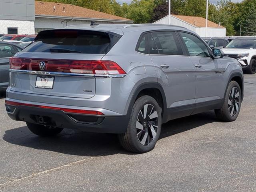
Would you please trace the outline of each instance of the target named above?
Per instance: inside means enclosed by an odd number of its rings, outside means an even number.
[[[113,134],[65,130],[40,138],[11,120],[0,98],[0,191],[256,191],[256,75],[245,75],[235,122],[214,112],[163,125],[151,152],[131,154]]]

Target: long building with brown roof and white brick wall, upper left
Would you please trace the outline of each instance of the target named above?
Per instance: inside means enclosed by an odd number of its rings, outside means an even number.
[[[0,0],[0,34],[37,34],[68,25],[133,23],[119,16],[54,2]]]

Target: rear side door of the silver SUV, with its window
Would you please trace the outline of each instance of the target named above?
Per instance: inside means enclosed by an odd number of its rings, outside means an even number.
[[[184,56],[177,32],[151,32],[149,45],[159,83],[166,94],[168,119],[190,115],[195,109],[195,69],[190,58]]]

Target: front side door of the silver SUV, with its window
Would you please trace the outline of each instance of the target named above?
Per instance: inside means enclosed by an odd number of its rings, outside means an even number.
[[[179,32],[196,70],[196,111],[214,106],[223,97],[224,68],[218,59],[212,59],[206,44],[194,34]]]

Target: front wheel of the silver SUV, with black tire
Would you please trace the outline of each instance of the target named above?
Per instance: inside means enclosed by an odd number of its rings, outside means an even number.
[[[231,81],[228,84],[222,108],[215,110],[217,118],[225,122],[236,120],[241,108],[241,96],[242,92],[239,84],[236,81]]]

